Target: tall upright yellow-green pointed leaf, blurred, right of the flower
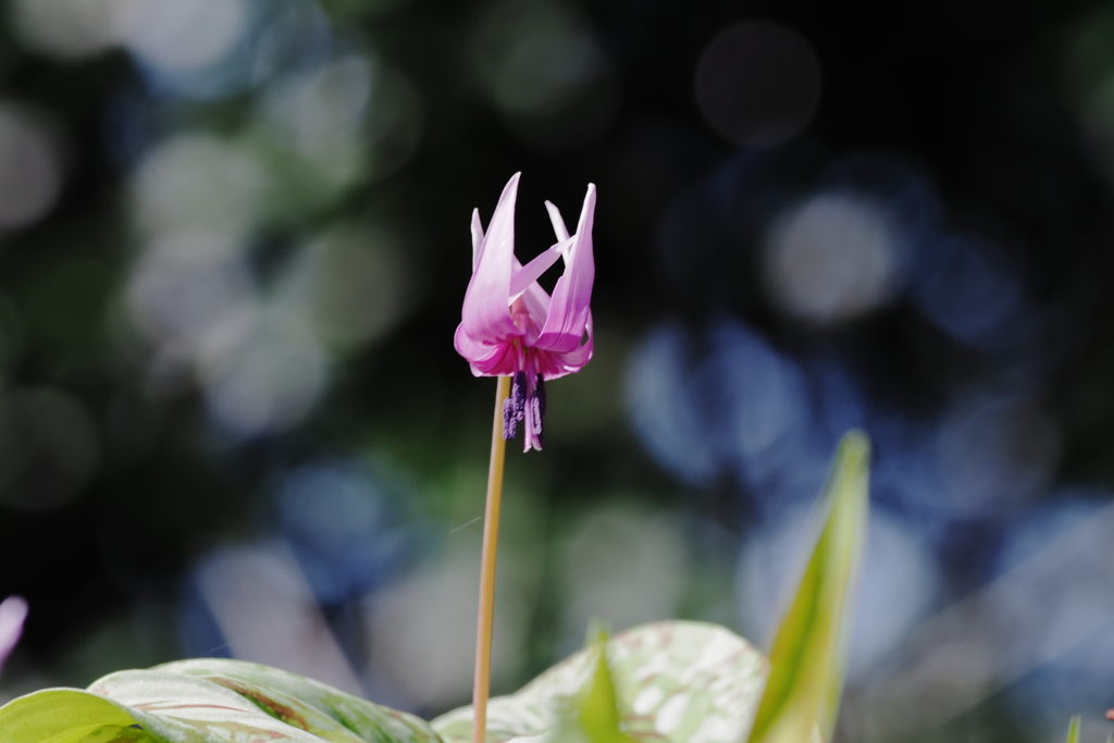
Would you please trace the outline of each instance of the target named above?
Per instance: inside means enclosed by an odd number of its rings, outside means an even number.
[[[821,497],[815,548],[774,637],[773,669],[751,743],[831,740],[843,685],[848,605],[867,534],[869,460],[867,437],[847,433]]]

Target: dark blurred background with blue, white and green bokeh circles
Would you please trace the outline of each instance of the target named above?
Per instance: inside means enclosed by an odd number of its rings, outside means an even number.
[[[451,339],[521,170],[521,257],[598,185],[598,335],[509,461],[496,692],[595,616],[765,643],[861,427],[842,740],[1111,732],[1110,3],[0,10],[0,697],[231,655],[468,701]]]

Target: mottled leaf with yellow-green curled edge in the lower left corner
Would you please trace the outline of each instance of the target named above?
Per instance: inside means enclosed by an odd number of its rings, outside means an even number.
[[[412,715],[276,668],[202,659],[0,707],[0,743],[440,743]]]

